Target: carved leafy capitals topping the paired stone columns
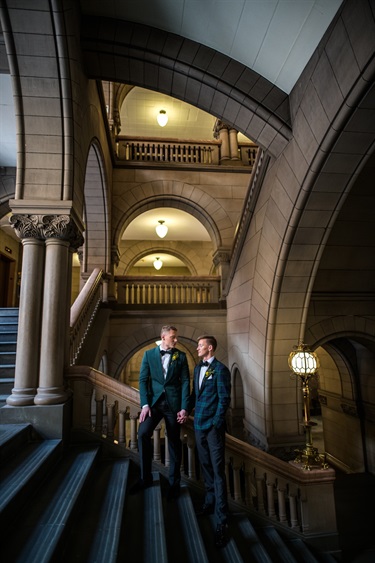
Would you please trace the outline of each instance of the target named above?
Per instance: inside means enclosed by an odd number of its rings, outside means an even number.
[[[57,238],[68,241],[75,250],[83,244],[83,235],[69,215],[14,214],[9,223],[21,240]]]

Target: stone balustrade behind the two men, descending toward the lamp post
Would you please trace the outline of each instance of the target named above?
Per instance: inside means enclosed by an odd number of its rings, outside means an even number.
[[[139,391],[85,366],[66,373],[73,391],[73,428],[84,429],[118,447],[137,450]],[[164,458],[161,437],[165,441]],[[181,428],[185,477],[199,481],[195,463],[192,419]],[[154,461],[169,465],[167,436],[154,431]],[[324,536],[337,541],[334,503],[335,471],[317,467],[306,471],[227,434],[226,472],[229,497],[265,521],[304,539]]]

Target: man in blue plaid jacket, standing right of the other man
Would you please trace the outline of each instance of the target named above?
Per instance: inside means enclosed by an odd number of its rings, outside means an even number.
[[[228,503],[225,477],[225,414],[230,403],[230,372],[214,356],[214,336],[200,336],[200,363],[194,369],[190,407],[194,408],[194,429],[205,484],[205,500],[199,514],[215,514],[215,543],[228,542]]]

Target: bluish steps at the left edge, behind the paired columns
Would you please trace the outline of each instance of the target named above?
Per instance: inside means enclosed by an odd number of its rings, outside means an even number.
[[[18,309],[0,308],[0,406],[14,387],[17,332]]]

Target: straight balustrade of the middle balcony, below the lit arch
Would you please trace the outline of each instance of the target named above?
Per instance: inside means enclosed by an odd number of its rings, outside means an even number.
[[[219,303],[220,277],[116,276],[122,305],[207,305]]]

